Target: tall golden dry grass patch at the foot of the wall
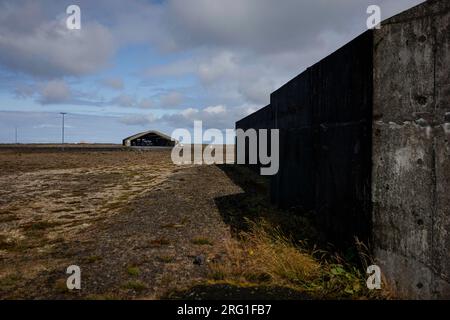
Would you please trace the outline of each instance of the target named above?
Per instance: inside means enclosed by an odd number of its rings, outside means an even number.
[[[284,286],[319,299],[381,297],[367,289],[364,270],[294,242],[266,222],[250,225],[242,241],[227,244],[225,259],[209,264],[212,282]]]

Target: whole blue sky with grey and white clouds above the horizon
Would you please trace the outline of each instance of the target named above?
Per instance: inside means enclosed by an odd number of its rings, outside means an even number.
[[[422,0],[0,0],[0,143],[233,128],[270,93]],[[81,8],[68,30],[66,8]]]

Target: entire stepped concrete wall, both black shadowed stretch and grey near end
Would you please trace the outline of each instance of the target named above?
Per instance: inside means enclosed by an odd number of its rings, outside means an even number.
[[[384,21],[236,123],[280,130],[273,202],[314,211],[336,244],[371,240],[400,297],[450,298],[449,12]]]

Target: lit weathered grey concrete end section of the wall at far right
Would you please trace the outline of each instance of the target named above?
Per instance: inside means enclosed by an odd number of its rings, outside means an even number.
[[[374,43],[375,256],[398,295],[449,298],[450,1],[385,21]]]

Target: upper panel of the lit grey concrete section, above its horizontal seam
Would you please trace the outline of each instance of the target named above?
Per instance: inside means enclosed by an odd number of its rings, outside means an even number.
[[[433,18],[383,23],[374,36],[374,116],[385,122],[429,120],[434,109]]]

